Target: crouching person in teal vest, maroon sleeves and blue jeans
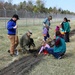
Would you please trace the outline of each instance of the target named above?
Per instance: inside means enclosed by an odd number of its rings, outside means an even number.
[[[50,54],[52,54],[55,58],[61,59],[62,56],[66,52],[66,43],[62,38],[60,31],[56,31],[56,41],[53,48],[45,48]]]

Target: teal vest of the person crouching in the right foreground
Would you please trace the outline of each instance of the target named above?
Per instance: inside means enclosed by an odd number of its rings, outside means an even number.
[[[60,44],[58,46],[54,46],[54,52],[66,52],[66,43],[65,40],[59,36],[56,37],[56,40],[60,38]]]

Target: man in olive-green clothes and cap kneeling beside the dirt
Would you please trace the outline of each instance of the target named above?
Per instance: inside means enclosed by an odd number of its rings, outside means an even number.
[[[23,52],[28,51],[30,46],[35,47],[34,40],[31,38],[32,31],[28,30],[22,37],[20,38],[20,46],[23,48]]]

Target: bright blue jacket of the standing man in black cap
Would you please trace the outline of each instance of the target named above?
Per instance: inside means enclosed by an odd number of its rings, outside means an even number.
[[[7,30],[8,30],[8,35],[16,35],[16,29],[13,27],[16,26],[16,21],[14,20],[9,20],[7,23]]]

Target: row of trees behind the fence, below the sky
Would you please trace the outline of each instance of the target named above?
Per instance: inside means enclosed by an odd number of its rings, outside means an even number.
[[[8,2],[4,2],[3,0],[0,0],[0,9],[9,9],[9,10],[26,10],[30,12],[40,12],[40,13],[61,13],[61,14],[75,14],[74,12],[71,12],[69,10],[63,10],[62,8],[57,7],[45,7],[44,0],[36,0],[34,3],[32,0],[28,0],[28,2],[23,1],[19,4],[12,4],[12,0],[8,0]]]

